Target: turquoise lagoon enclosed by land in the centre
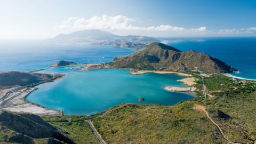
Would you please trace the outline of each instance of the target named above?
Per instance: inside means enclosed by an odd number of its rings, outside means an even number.
[[[176,74],[131,75],[122,69],[71,71],[67,68],[54,68],[67,76],[39,85],[38,90],[26,99],[47,108],[63,110],[65,115],[89,115],[123,102],[174,105],[194,98],[186,93],[164,90],[165,86],[186,86],[177,82],[183,77]],[[54,69],[50,69],[51,73]],[[145,101],[139,102],[139,98]]]

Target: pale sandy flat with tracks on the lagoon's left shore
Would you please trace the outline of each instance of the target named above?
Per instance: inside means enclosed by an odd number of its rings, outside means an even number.
[[[50,115],[50,116],[61,116],[62,111],[60,110],[51,110],[44,108],[42,106],[37,106],[33,103],[27,102],[25,100],[26,96],[36,90],[35,87],[18,87],[17,89],[9,89],[9,92],[6,92],[5,89],[1,90],[2,93],[0,96],[0,110],[9,110],[13,112],[22,112],[22,113],[32,113],[36,115]]]

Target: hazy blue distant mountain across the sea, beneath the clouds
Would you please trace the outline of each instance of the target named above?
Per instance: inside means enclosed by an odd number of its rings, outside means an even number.
[[[85,29],[67,35],[59,34],[49,39],[49,41],[57,43],[90,43],[94,45],[111,45],[114,47],[141,48],[151,42],[159,42],[159,39],[147,36],[118,36],[108,31]]]

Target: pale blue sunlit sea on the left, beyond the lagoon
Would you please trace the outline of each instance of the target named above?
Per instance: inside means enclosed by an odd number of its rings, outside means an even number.
[[[111,46],[51,44],[35,41],[0,41],[0,71],[31,71],[47,68],[59,60],[101,63],[135,50]]]

